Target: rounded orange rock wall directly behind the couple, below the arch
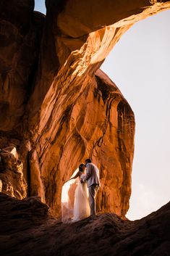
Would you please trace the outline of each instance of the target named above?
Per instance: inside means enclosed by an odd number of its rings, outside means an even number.
[[[92,157],[101,171],[98,211],[124,216],[131,192],[134,115],[119,89],[104,73],[98,70],[94,78],[87,77],[85,85],[87,83],[74,102],[75,93],[71,91],[69,96],[68,88],[68,98],[64,97],[62,108],[52,114],[54,122],[48,123],[48,130],[45,127],[41,132],[39,144],[46,150],[42,152],[37,148],[37,154],[41,159],[46,202],[54,205],[54,215],[57,215],[63,181],[72,176],[78,162]],[[51,133],[54,128],[57,134]],[[44,141],[44,136],[48,141]]]

